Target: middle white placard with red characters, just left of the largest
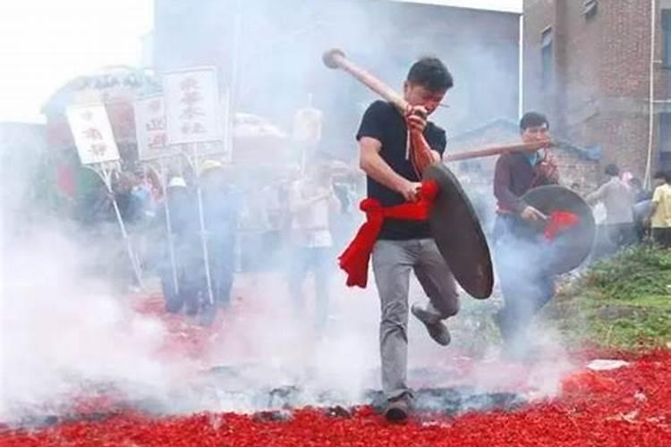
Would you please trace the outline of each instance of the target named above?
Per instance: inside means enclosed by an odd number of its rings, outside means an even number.
[[[174,155],[167,145],[166,109],[162,96],[135,101],[135,133],[140,160]]]

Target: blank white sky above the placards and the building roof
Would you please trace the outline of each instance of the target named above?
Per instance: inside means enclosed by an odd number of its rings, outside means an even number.
[[[403,1],[522,10],[522,0]],[[153,27],[153,5],[154,0],[1,0],[0,122],[42,122],[41,105],[68,80],[105,66],[137,66],[141,38]]]

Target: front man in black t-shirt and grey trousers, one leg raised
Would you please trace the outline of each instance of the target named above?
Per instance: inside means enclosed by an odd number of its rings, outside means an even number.
[[[436,110],[452,86],[452,75],[442,62],[423,58],[412,65],[403,85],[403,96],[411,110],[402,113],[395,105],[376,101],[363,115],[356,136],[361,169],[367,174],[368,197],[377,199],[382,207],[418,199],[421,179],[412,163],[411,140],[413,146],[419,141],[431,161],[442,158],[445,131],[426,117]],[[457,313],[459,301],[454,276],[431,238],[427,221],[386,219],[373,248],[372,264],[381,301],[379,336],[382,387],[387,399],[385,416],[389,421],[400,421],[408,416],[412,401],[406,384],[411,270],[429,296],[428,306],[415,304],[412,314],[439,344],[450,342],[443,320]]]

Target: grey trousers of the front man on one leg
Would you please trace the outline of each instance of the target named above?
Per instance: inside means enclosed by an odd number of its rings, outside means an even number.
[[[372,261],[380,298],[382,390],[387,399],[395,399],[410,392],[406,375],[411,270],[429,296],[429,310],[441,319],[459,311],[459,299],[454,276],[432,239],[378,240]]]

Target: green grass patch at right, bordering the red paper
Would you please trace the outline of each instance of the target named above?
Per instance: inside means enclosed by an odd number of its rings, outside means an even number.
[[[641,245],[599,261],[548,308],[569,341],[671,346],[671,252]]]

